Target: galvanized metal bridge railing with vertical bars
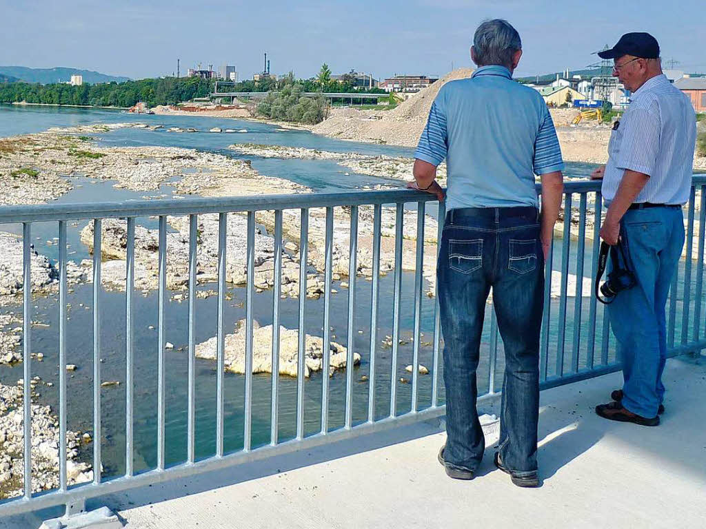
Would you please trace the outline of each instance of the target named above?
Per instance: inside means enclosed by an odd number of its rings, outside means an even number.
[[[701,298],[702,276],[704,261],[704,227],[706,222],[706,205],[704,191],[706,190],[706,176],[694,176],[694,187],[691,190],[690,202],[687,209],[687,244],[686,258],[683,266],[675,275],[669,302],[668,336],[670,355],[688,351],[700,351],[706,348],[706,339],[702,338]],[[596,272],[597,253],[599,246],[599,226],[601,222],[601,197],[599,183],[589,181],[567,181],[565,183],[564,211],[571,212],[566,217],[575,218],[575,223],[565,221],[563,224],[563,237],[561,238],[561,272],[558,286],[558,302],[552,278],[554,247],[546,260],[546,291],[544,303],[544,320],[542,324],[540,373],[542,388],[568,384],[580,379],[595,377],[619,369],[618,360],[610,351],[610,334],[606,312],[597,306],[592,296],[594,277]],[[539,186],[537,186],[539,191]],[[696,191],[699,191],[698,207],[696,204]],[[578,197],[578,209],[573,209]],[[429,420],[443,415],[443,397],[441,396],[441,329],[439,324],[438,303],[433,310],[431,318],[433,325],[433,349],[431,351],[431,403],[429,406],[420,406],[419,394],[419,352],[422,320],[423,299],[423,267],[424,267],[424,228],[426,202],[434,202],[433,195],[414,192],[410,190],[379,190],[379,191],[354,191],[350,193],[325,193],[301,195],[268,195],[255,197],[227,197],[227,198],[198,198],[184,200],[158,200],[136,201],[124,203],[97,203],[97,204],[63,204],[63,205],[37,205],[22,207],[0,207],[0,224],[23,223],[23,253],[24,253],[24,285],[31,284],[31,248],[32,224],[44,221],[58,222],[59,229],[59,489],[51,492],[32,494],[32,438],[31,438],[31,413],[30,413],[30,379],[31,379],[31,354],[32,354],[32,289],[24,288],[23,291],[23,403],[24,403],[24,495],[8,499],[0,504],[0,516],[13,513],[22,513],[48,506],[69,504],[102,494],[126,490],[132,487],[148,485],[171,478],[181,478],[196,473],[215,470],[226,466],[234,466],[246,461],[267,458],[275,454],[297,451],[313,446],[318,446],[335,439],[354,437],[369,432],[384,430],[390,427],[404,425],[419,420]],[[413,298],[413,345],[412,345],[412,386],[411,405],[409,412],[398,413],[397,386],[400,381],[395,377],[398,361],[400,332],[401,332],[401,304],[402,304],[402,254],[403,254],[403,219],[405,205],[416,204],[417,207],[417,237],[414,266],[414,298]],[[354,313],[361,310],[355,303],[358,255],[358,224],[359,206],[373,206],[373,238],[372,238],[372,276],[371,276],[371,305],[370,309],[370,353],[369,358],[369,391],[367,420],[354,424],[352,410],[354,408],[353,372],[354,372]],[[349,294],[347,303],[347,362],[345,365],[345,420],[342,427],[331,430],[328,423],[330,405],[330,386],[328,366],[330,365],[331,341],[331,296],[332,296],[332,267],[333,267],[333,235],[334,235],[334,208],[350,207],[350,237],[349,237]],[[378,336],[378,311],[380,297],[380,262],[381,262],[381,218],[383,208],[395,209],[395,246],[394,246],[394,278],[393,278],[393,324],[392,343],[390,351],[390,388],[389,388],[389,414],[383,418],[376,418],[376,403],[379,395],[376,393],[376,351]],[[321,429],[316,434],[306,435],[304,428],[304,370],[306,332],[304,332],[304,314],[307,300],[307,267],[309,250],[309,210],[312,208],[325,208],[325,269],[323,271],[325,291],[323,293],[323,370],[321,379]],[[280,358],[280,294],[282,288],[282,212],[285,209],[299,209],[301,212],[300,243],[299,243],[299,338],[298,338],[298,371],[297,371],[297,398],[296,398],[296,434],[293,439],[280,441],[278,438],[279,418],[279,358]],[[256,212],[275,211],[274,229],[274,286],[273,286],[273,347],[272,347],[272,373],[270,389],[270,444],[253,448],[251,443],[253,428],[253,296],[255,274],[255,231]],[[695,212],[698,211],[698,250],[693,256],[693,231],[695,226]],[[246,357],[244,372],[244,420],[242,424],[243,447],[241,450],[226,453],[224,444],[224,361],[225,361],[225,293],[226,283],[226,248],[227,248],[227,215],[239,213],[246,214]],[[197,236],[198,215],[219,215],[219,236],[217,253],[217,369],[216,369],[216,442],[215,454],[208,458],[198,460],[195,451],[195,300],[197,283]],[[134,329],[136,325],[135,300],[133,299],[135,284],[135,229],[138,217],[158,217],[158,351],[157,351],[157,463],[155,468],[136,473],[133,467],[134,442],[133,442],[133,406],[134,406],[134,365],[136,345]],[[187,416],[187,455],[186,461],[176,466],[168,467],[165,464],[165,358],[164,346],[165,319],[164,312],[167,305],[167,216],[189,217],[189,360],[188,360],[188,416]],[[441,240],[443,229],[443,205],[438,206],[438,226],[436,238]],[[126,413],[125,413],[125,473],[121,477],[103,480],[101,473],[102,454],[102,417],[101,417],[101,332],[100,314],[103,310],[100,300],[101,285],[101,238],[102,219],[126,218],[127,219],[127,247],[126,247]],[[92,482],[69,486],[66,478],[66,245],[67,221],[89,219],[93,223],[93,260],[92,260],[92,303],[93,303],[93,454],[92,465],[94,477]],[[587,224],[589,226],[587,226]],[[590,238],[587,239],[587,235]],[[437,242],[438,245],[438,242]],[[590,250],[587,250],[590,247]],[[438,246],[437,246],[438,248]],[[574,252],[572,253],[572,248]],[[558,248],[557,248],[558,250]],[[572,260],[573,256],[573,260]],[[693,259],[697,260],[695,278],[692,277]],[[590,262],[587,263],[587,260]],[[584,300],[585,288],[583,278],[587,272],[586,265],[590,268],[590,298]],[[570,271],[575,272],[575,286],[570,287]],[[681,287],[681,299],[680,299]],[[692,297],[693,292],[693,297]],[[573,297],[573,311],[570,310],[570,298]],[[586,314],[585,305],[588,305]],[[693,310],[692,310],[693,305]],[[678,310],[681,308],[681,310]],[[367,310],[367,308],[366,308]],[[489,399],[498,394],[496,371],[503,367],[501,343],[498,343],[498,327],[491,305],[488,305],[489,317],[486,317],[484,332],[484,352],[487,352],[487,379],[484,382],[487,390],[479,400]],[[573,315],[572,315],[573,312]],[[676,320],[681,315],[681,329],[676,337]],[[486,315],[487,316],[487,315]],[[556,319],[556,322],[555,322]],[[571,321],[569,321],[571,320]],[[600,327],[598,331],[598,327]],[[568,335],[571,334],[570,348],[567,348]],[[484,375],[485,376],[485,375]],[[257,396],[259,397],[259,395]],[[385,405],[386,406],[386,405]]]

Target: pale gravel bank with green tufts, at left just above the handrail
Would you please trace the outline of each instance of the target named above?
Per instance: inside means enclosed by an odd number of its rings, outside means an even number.
[[[0,205],[41,204],[73,188],[67,176],[115,181],[114,187],[157,190],[171,183],[178,194],[205,190],[234,193],[293,193],[290,181],[258,174],[248,160],[177,147],[100,147],[83,134],[109,133],[117,128],[149,128],[144,123],[77,126],[0,140],[0,178],[9,186]],[[156,126],[152,126],[155,128]]]

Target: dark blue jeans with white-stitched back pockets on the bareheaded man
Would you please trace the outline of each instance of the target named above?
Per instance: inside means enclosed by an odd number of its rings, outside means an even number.
[[[492,286],[505,346],[500,456],[513,473],[532,473],[537,470],[539,331],[544,305],[537,209],[452,209],[441,237],[437,280],[444,339],[445,462],[476,470],[483,457],[476,370]]]

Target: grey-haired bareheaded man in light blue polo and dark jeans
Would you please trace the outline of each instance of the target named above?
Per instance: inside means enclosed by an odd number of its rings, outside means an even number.
[[[441,87],[419,139],[414,183],[443,199],[436,166],[446,159],[446,219],[438,257],[447,440],[438,458],[451,478],[473,478],[485,449],[476,369],[486,300],[505,346],[501,434],[495,463],[520,487],[539,485],[539,330],[544,258],[563,191],[554,123],[539,92],[515,83],[520,35],[505,20],[476,30],[469,79]],[[542,213],[534,177],[542,177]]]

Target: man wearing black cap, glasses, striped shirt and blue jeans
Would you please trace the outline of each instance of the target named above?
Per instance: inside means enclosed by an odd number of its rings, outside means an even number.
[[[696,139],[696,116],[688,97],[662,73],[659,44],[648,33],[626,33],[612,49],[613,75],[633,92],[616,121],[603,178],[608,211],[601,238],[627,248],[637,284],[608,305],[623,362],[623,389],[596,407],[603,418],[659,425],[664,411],[662,371],[666,359],[666,305],[681,256]]]

